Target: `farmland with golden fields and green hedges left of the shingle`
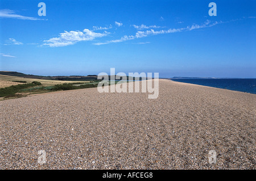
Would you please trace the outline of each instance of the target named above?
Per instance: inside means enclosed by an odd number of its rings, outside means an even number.
[[[0,71],[2,81],[13,81],[23,84],[6,86],[0,89],[0,98],[20,98],[28,94],[40,94],[59,90],[76,90],[97,87],[102,80],[97,80],[97,75],[72,75],[72,76],[40,76],[23,74],[16,71]],[[64,81],[57,81],[63,79]],[[110,79],[110,76],[109,76]],[[40,81],[40,82],[38,82]],[[31,82],[31,83],[30,83]],[[118,81],[115,80],[115,83]],[[14,83],[13,83],[14,84]],[[111,83],[109,82],[109,85]],[[103,85],[104,86],[104,85]]]

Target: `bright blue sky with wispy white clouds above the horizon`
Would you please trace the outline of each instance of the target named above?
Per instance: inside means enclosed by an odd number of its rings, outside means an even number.
[[[1,0],[0,70],[256,78],[255,32],[253,0]]]

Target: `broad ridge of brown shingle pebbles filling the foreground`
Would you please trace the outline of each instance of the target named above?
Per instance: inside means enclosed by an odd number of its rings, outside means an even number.
[[[147,96],[92,88],[3,100],[0,169],[256,169],[256,95],[159,80],[158,99]]]

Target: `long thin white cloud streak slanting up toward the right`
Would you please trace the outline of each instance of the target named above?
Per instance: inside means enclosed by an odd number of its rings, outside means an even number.
[[[127,40],[134,40],[134,39],[139,39],[142,37],[147,37],[147,36],[152,36],[152,35],[160,35],[160,34],[183,32],[183,31],[192,31],[192,30],[199,29],[199,28],[212,27],[219,23],[222,23],[222,22],[211,23],[209,20],[207,20],[206,22],[204,22],[201,25],[193,24],[192,26],[187,26],[186,28],[170,28],[168,30],[159,30],[159,31],[155,31],[153,29],[147,30],[147,31],[137,31],[135,33],[135,35],[130,35],[130,36],[125,35],[125,36],[121,37],[121,39],[109,40],[109,41],[105,41],[105,42],[98,42],[98,43],[94,43],[94,45],[119,43],[119,42],[123,42],[123,41],[127,41]]]

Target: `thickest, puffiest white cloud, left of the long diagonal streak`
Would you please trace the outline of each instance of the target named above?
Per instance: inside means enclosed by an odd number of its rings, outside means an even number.
[[[49,47],[64,47],[67,45],[73,45],[79,41],[90,41],[97,37],[102,37],[108,35],[109,32],[104,31],[104,33],[96,33],[88,29],[81,31],[65,31],[60,33],[59,37],[53,37],[49,40],[44,40],[44,44]]]

